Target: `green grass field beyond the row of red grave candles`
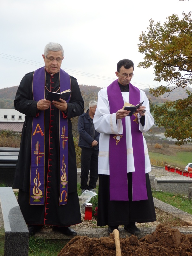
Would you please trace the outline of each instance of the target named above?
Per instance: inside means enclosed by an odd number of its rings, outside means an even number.
[[[175,167],[177,166],[182,169],[184,169],[185,166],[188,163],[191,163],[191,161],[192,161],[192,153],[185,152],[185,151],[177,152],[175,156],[149,152],[149,157],[151,159],[151,162],[152,162],[152,159],[155,159],[157,162],[161,162],[163,165],[164,165],[164,163],[167,163],[169,165],[173,165]]]

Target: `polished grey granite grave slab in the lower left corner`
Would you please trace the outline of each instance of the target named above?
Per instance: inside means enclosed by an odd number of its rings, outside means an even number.
[[[0,187],[0,206],[1,255],[28,256],[29,231],[12,188]]]

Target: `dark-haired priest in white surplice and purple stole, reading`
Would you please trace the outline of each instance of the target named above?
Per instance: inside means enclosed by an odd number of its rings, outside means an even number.
[[[124,225],[139,234],[136,222],[156,220],[148,172],[151,165],[143,133],[154,124],[145,93],[130,81],[134,71],[131,60],[120,60],[118,77],[98,93],[94,116],[99,140],[98,226],[108,225],[108,233]],[[136,112],[123,110],[125,102],[138,105]]]

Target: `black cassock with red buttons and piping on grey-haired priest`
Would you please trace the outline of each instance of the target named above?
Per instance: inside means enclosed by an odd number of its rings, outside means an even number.
[[[60,154],[59,154],[59,110],[51,105],[45,110],[45,204],[29,204],[31,131],[33,117],[36,117],[37,101],[33,100],[33,73],[26,74],[20,82],[14,100],[15,109],[25,114],[20,152],[13,187],[19,188],[18,203],[27,224],[70,226],[81,223],[77,194],[76,153],[72,134],[72,117],[84,113],[84,101],[76,79],[71,79],[71,98],[68,103],[68,202],[59,206],[60,196]],[[46,71],[45,85],[50,91],[59,89],[59,73],[51,76]],[[51,88],[50,88],[51,85]],[[48,90],[45,90],[45,97]],[[67,88],[68,89],[68,88]],[[60,91],[60,90],[59,90]],[[59,92],[58,91],[58,92]],[[50,153],[51,152],[51,153]],[[49,157],[51,154],[51,157]],[[49,166],[49,159],[52,159]],[[49,163],[48,163],[49,162]]]

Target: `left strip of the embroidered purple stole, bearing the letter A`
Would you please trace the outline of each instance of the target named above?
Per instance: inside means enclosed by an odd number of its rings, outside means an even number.
[[[45,68],[39,68],[33,75],[33,99],[44,99]],[[41,155],[40,155],[41,154]],[[44,112],[40,111],[38,118],[33,118],[31,134],[31,175],[30,204],[44,204]]]

